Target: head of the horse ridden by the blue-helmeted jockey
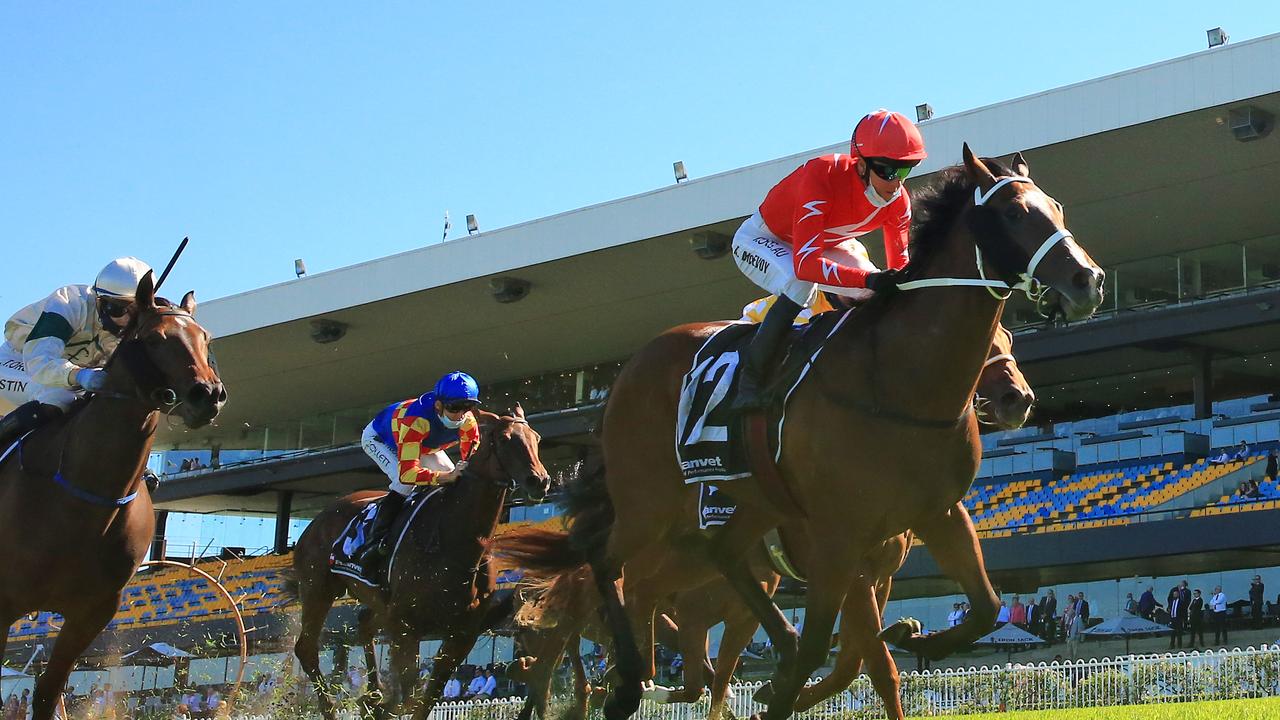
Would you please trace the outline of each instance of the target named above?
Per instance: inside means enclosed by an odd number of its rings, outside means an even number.
[[[467,471],[520,487],[534,501],[547,497],[552,477],[538,455],[543,437],[529,425],[525,409],[517,402],[511,415],[477,410],[476,420],[480,446],[467,461]]]

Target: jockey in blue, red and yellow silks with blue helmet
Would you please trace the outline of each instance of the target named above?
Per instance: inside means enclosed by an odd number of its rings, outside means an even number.
[[[387,533],[419,487],[457,480],[475,452],[480,429],[471,410],[480,405],[480,386],[466,373],[447,373],[435,389],[394,402],[365,428],[361,447],[390,478],[390,492],[378,501],[374,528],[361,551],[361,565],[387,552]],[[462,460],[453,465],[445,450],[458,446]],[[394,450],[393,450],[394,448]]]

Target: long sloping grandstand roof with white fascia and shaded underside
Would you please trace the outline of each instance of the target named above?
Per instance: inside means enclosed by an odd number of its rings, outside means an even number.
[[[1280,227],[1280,142],[1231,138],[1226,109],[1245,100],[1280,115],[1280,35],[925,122],[923,169],[957,160],[963,141],[987,155],[1024,151],[1103,264],[1256,238]],[[773,182],[841,147],[206,302],[200,316],[219,336],[232,401],[218,427],[164,441],[234,447],[246,425],[407,396],[453,366],[520,378],[733,316],[758,291],[731,259],[699,260],[692,232],[731,234]],[[495,302],[488,279],[502,274],[530,281],[529,297]],[[314,343],[316,318],[347,323],[347,336]]]

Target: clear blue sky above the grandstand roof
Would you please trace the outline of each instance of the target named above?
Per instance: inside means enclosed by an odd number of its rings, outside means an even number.
[[[0,315],[116,255],[204,299],[1175,58],[1245,3],[6,3]],[[1140,9],[1139,9],[1140,8]]]

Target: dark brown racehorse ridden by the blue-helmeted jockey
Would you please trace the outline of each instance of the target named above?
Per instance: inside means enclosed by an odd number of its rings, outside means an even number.
[[[372,670],[374,635],[381,629],[392,639],[393,678],[385,707],[416,705],[415,717],[425,720],[445,680],[475,646],[476,637],[508,614],[497,602],[485,568],[484,541],[493,536],[507,492],[518,483],[525,493],[541,500],[550,475],[538,455],[541,438],[525,420],[518,405],[512,415],[475,411],[480,443],[460,480],[445,486],[438,497],[415,515],[392,565],[387,588],[371,588],[329,571],[329,555],[351,519],[381,497],[380,492],[356,492],[325,509],[307,525],[293,551],[293,571],[287,592],[302,602],[302,623],[294,655],[320,696],[329,720],[334,707],[320,674],[320,637],[334,601],[351,593],[364,605],[360,639],[365,646],[369,684],[376,687]],[[413,693],[417,678],[419,641],[443,634],[444,643],[425,691]]]

